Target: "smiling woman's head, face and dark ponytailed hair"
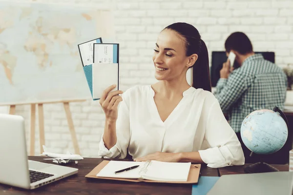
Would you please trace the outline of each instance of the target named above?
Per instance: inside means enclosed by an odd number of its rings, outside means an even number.
[[[174,23],[167,26],[160,33],[154,51],[156,79],[166,80],[179,75],[184,78],[187,69],[193,67],[192,86],[211,91],[208,49],[192,25]],[[166,67],[162,66],[162,62]]]

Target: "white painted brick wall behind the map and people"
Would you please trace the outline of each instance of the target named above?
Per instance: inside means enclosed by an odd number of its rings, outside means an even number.
[[[20,0],[11,0],[20,1]],[[121,88],[155,82],[151,61],[159,32],[168,24],[184,21],[194,25],[211,51],[224,50],[230,33],[243,31],[255,51],[274,51],[276,63],[293,63],[293,0],[21,0],[110,7],[115,15],[115,34],[120,43]],[[93,38],[89,38],[93,39]],[[83,156],[98,156],[105,116],[98,102],[70,103]],[[26,118],[29,143],[30,106],[17,106]],[[56,152],[73,150],[63,105],[44,105],[46,146]],[[38,123],[38,120],[37,120]],[[39,153],[36,124],[36,154]],[[29,147],[29,144],[28,144]]]

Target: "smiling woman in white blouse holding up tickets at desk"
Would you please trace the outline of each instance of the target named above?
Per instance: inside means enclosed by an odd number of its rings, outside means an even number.
[[[240,142],[210,93],[208,50],[197,29],[187,23],[167,26],[156,41],[153,62],[157,83],[125,93],[110,92],[114,85],[105,89],[99,155],[125,158],[129,152],[135,161],[243,165]],[[186,79],[191,67],[192,86]]]

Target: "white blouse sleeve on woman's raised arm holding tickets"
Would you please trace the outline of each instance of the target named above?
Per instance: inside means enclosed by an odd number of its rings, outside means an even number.
[[[125,158],[127,155],[127,149],[130,140],[129,133],[129,104],[127,98],[127,92],[122,96],[123,101],[120,102],[118,108],[118,118],[116,121],[116,144],[109,150],[105,147],[103,136],[101,137],[99,145],[99,156],[106,156],[109,158]]]

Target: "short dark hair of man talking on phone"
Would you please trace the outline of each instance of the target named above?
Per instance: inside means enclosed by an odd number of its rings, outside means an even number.
[[[232,49],[242,55],[253,51],[250,39],[242,32],[232,33],[225,42],[225,49],[228,53]]]

